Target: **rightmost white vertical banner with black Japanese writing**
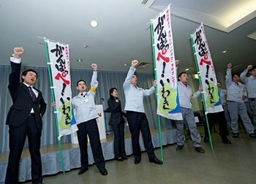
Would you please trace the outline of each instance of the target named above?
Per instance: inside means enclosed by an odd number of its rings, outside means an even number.
[[[217,78],[214,71],[214,63],[206,39],[203,23],[191,34],[192,47],[196,58],[197,72],[200,73],[203,96],[206,104],[206,113],[221,112],[222,104],[219,98]]]

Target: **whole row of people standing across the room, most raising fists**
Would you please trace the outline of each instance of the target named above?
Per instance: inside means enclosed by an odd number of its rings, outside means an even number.
[[[25,144],[25,139],[29,139],[29,152],[31,154],[31,178],[32,183],[42,183],[42,163],[39,152],[40,138],[42,133],[42,116],[46,110],[46,104],[42,98],[42,93],[33,85],[37,81],[37,72],[33,69],[24,71],[21,74],[20,83],[20,55],[24,52],[22,47],[15,47],[13,57],[10,58],[12,72],[10,74],[10,83],[8,89],[12,97],[12,107],[7,115],[7,125],[9,125],[10,136],[10,156],[7,166],[5,183],[18,183],[19,161]],[[179,61],[176,61],[178,67]],[[110,110],[110,126],[114,134],[114,159],[124,161],[127,159],[124,145],[124,118],[127,118],[129,131],[132,135],[132,152],[135,157],[134,163],[140,164],[141,151],[139,137],[140,132],[143,137],[143,143],[148,153],[148,161],[154,164],[163,164],[154,154],[154,146],[151,140],[151,132],[148,125],[148,119],[144,110],[143,97],[150,96],[157,87],[157,81],[154,80],[153,86],[149,89],[138,87],[138,77],[135,74],[138,61],[133,60],[124,80],[123,90],[125,95],[125,107],[121,109],[121,99],[118,98],[118,90],[110,89],[110,98],[108,106]],[[87,135],[90,139],[91,150],[94,157],[94,164],[99,169],[101,175],[108,175],[105,168],[105,158],[102,153],[102,147],[99,139],[99,130],[97,126],[97,110],[94,97],[97,92],[97,64],[91,64],[93,75],[91,77],[91,86],[87,91],[85,80],[78,80],[76,83],[78,95],[72,98],[72,107],[75,110],[75,120],[78,126],[78,143],[80,147],[80,170],[78,175],[82,175],[89,169],[87,153]],[[238,133],[238,115],[244,123],[244,127],[249,137],[256,138],[256,66],[249,65],[241,75],[231,72],[232,64],[227,64],[226,86],[227,90],[221,88],[218,82],[219,96],[222,102],[223,112],[208,113],[210,129],[215,120],[219,123],[219,134],[222,142],[231,144],[227,139],[228,127],[232,131],[234,138],[239,137]],[[249,77],[246,77],[249,72]],[[241,82],[244,84],[242,84]],[[205,153],[201,146],[200,134],[195,123],[194,112],[192,110],[192,100],[200,96],[203,88],[192,93],[192,88],[188,85],[188,74],[181,72],[178,74],[178,99],[181,106],[183,120],[176,121],[176,150],[180,151],[184,147],[184,124],[187,124],[192,138],[192,144],[195,151]],[[245,97],[246,89],[246,97]],[[247,99],[247,106],[244,102]],[[247,112],[252,113],[252,121]],[[204,138],[208,142],[208,131]]]

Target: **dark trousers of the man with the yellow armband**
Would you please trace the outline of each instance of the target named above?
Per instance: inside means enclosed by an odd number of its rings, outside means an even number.
[[[99,129],[96,119],[88,120],[78,124],[78,144],[80,147],[80,162],[82,169],[88,169],[88,152],[87,145],[90,139],[91,152],[94,157],[94,163],[99,170],[105,168],[105,160],[102,153],[102,145],[99,140]]]

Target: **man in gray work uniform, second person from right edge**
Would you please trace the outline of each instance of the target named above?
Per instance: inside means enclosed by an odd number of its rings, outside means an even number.
[[[254,127],[249,119],[244,104],[244,85],[241,84],[239,74],[231,74],[232,64],[227,64],[226,86],[227,86],[227,109],[230,112],[231,130],[234,138],[239,137],[238,133],[238,114],[243,120],[244,127],[249,137],[256,138]]]

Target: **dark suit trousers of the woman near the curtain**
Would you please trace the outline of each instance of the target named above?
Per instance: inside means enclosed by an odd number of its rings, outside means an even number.
[[[111,125],[114,133],[114,154],[115,158],[126,156],[124,147],[124,123]]]

